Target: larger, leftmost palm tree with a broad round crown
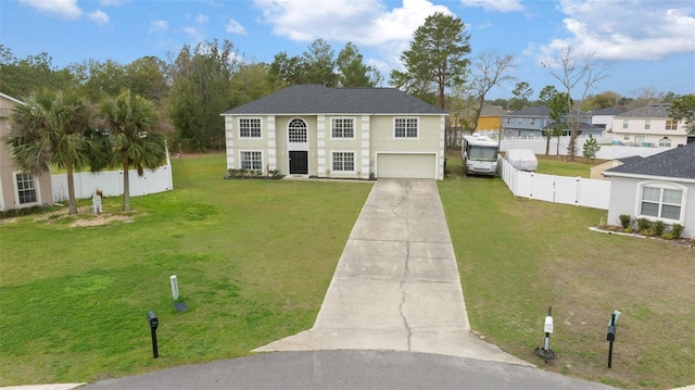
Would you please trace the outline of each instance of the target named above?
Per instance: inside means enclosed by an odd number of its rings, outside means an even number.
[[[103,152],[98,138],[87,137],[90,114],[74,89],[33,92],[26,104],[12,110],[12,131],[4,139],[14,164],[34,175],[50,173],[51,165],[67,173],[70,214],[77,214],[73,172],[92,168]],[[99,164],[94,164],[98,166]]]

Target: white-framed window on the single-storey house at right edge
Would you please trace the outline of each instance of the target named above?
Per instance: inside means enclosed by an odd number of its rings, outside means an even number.
[[[640,215],[681,221],[683,200],[683,189],[658,184],[644,185],[640,198]]]

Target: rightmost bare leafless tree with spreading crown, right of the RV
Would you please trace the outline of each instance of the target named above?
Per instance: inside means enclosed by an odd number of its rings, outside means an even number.
[[[556,60],[548,60],[542,63],[547,68],[551,76],[560,81],[567,91],[567,103],[571,106],[572,90],[580,91],[579,105],[586,97],[586,93],[596,83],[608,77],[608,65],[598,62],[594,58],[595,52],[581,54],[567,47],[558,53]],[[570,139],[567,152],[570,161],[574,161],[577,149],[577,137],[579,137],[579,110],[571,110],[569,113]]]

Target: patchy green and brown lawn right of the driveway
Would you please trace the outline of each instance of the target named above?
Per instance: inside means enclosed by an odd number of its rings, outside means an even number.
[[[589,230],[606,211],[515,198],[500,178],[439,183],[471,327],[548,370],[621,388],[695,385],[695,250]],[[547,366],[534,355],[553,307]],[[607,325],[618,320],[612,368]]]

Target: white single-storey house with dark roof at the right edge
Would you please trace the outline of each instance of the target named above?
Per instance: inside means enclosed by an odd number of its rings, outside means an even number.
[[[604,172],[610,177],[608,223],[621,214],[681,224],[695,237],[695,143],[630,161]]]

